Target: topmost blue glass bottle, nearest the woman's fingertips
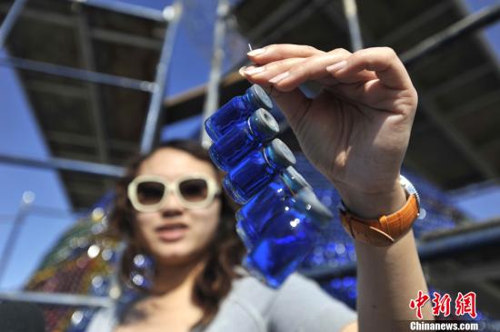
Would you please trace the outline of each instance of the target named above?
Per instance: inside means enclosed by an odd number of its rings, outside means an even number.
[[[259,108],[270,110],[273,108],[273,102],[263,88],[254,84],[244,95],[234,97],[206,119],[205,131],[212,141],[217,142],[229,128],[245,122],[250,114]]]

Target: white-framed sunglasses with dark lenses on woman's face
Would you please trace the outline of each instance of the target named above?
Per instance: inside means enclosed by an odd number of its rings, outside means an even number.
[[[157,175],[139,175],[127,188],[128,199],[140,212],[161,210],[169,192],[185,208],[203,209],[212,204],[220,191],[217,182],[206,174],[190,174],[175,181]]]

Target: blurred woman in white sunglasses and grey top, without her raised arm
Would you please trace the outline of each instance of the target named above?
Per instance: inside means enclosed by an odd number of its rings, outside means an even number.
[[[133,163],[118,186],[111,226],[128,238],[122,260],[125,280],[135,255],[145,254],[155,261],[154,282],[144,298],[95,320],[119,332],[250,332],[270,325],[276,331],[294,326],[320,331],[351,322],[355,316],[348,308],[305,278],[294,276],[274,291],[237,268],[244,249],[235,235],[235,212],[218,179],[196,142],[170,142]],[[167,187],[165,196],[159,193]],[[296,315],[288,316],[313,305],[338,317],[318,325],[314,312],[295,320]],[[105,330],[95,321],[93,325],[91,330]]]

